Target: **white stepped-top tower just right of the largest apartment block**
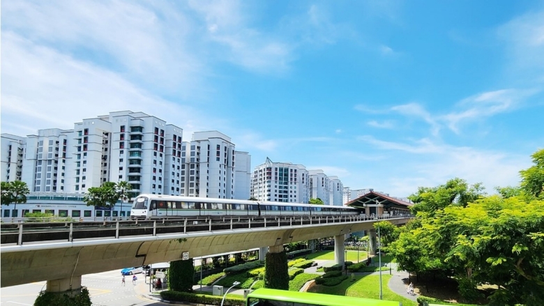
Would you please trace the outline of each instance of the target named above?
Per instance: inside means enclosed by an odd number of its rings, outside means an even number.
[[[218,132],[195,132],[183,143],[181,192],[188,197],[234,199],[234,144]]]

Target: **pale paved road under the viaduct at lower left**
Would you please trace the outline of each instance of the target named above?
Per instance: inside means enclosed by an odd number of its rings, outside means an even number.
[[[138,274],[137,277],[136,285],[133,285],[130,276],[126,276],[126,284],[121,286],[121,270],[114,270],[83,275],[82,285],[89,289],[91,301],[96,306],[167,305],[145,298],[142,293],[149,291],[149,286],[144,284],[143,274]],[[0,305],[31,306],[42,290],[45,290],[45,282],[2,288],[0,289]]]

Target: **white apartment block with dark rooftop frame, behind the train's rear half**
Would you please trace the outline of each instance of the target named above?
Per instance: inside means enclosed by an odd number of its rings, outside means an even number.
[[[308,171],[303,165],[272,162],[255,167],[251,196],[259,201],[308,203],[310,200]]]

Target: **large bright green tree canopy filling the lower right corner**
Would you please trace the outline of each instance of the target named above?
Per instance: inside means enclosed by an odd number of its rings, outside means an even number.
[[[487,284],[490,305],[543,305],[544,150],[532,156],[536,165],[520,171],[520,187],[497,195],[460,178],[419,188],[409,197],[416,220],[386,247],[399,268],[451,275],[469,300]]]

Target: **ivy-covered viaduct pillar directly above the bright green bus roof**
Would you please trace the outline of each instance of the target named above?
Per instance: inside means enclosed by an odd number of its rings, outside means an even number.
[[[287,254],[283,252],[283,245],[269,247],[264,267],[266,268],[264,273],[265,288],[289,290]]]

